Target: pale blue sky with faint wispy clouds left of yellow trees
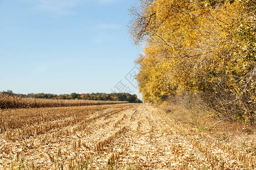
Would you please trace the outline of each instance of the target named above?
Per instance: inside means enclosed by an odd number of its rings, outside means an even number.
[[[124,78],[141,53],[127,28],[136,3],[0,0],[0,91],[110,93],[121,80],[138,95]]]

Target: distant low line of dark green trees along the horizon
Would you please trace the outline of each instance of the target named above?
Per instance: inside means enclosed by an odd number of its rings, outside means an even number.
[[[45,94],[45,93],[39,93],[39,94],[15,94],[11,90],[2,91],[0,94],[3,95],[9,95],[9,96],[19,96],[19,97],[30,97],[30,98],[36,98],[36,99],[62,99],[62,100],[110,100],[110,101],[129,101],[129,103],[142,103],[140,99],[137,98],[137,95],[131,95],[128,93],[112,93],[112,94],[106,94],[106,93],[91,93],[91,94]]]

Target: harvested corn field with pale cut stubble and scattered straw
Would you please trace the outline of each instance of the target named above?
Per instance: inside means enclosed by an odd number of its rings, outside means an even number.
[[[0,169],[255,169],[255,155],[145,104],[0,111]]]

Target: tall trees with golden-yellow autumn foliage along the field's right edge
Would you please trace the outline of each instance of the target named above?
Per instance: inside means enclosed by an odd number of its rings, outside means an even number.
[[[141,0],[130,33],[144,42],[137,59],[143,100],[190,91],[220,114],[255,117],[256,1]]]

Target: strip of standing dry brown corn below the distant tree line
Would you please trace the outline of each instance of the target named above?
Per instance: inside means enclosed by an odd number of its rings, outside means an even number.
[[[0,109],[73,107],[83,105],[102,105],[119,103],[128,103],[128,101],[33,99],[0,94]]]

